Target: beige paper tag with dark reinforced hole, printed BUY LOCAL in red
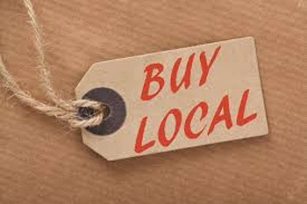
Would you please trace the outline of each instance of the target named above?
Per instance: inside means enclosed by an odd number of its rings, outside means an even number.
[[[252,37],[95,63],[76,97],[109,105],[82,130],[107,160],[268,133]]]

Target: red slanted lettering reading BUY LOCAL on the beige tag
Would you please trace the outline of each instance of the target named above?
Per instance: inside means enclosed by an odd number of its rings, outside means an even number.
[[[209,74],[210,70],[212,69],[216,58],[218,57],[218,54],[220,53],[220,50],[221,50],[221,46],[218,46],[215,49],[209,63],[207,61],[205,52],[200,53],[199,60],[200,60],[200,65],[201,65],[201,76],[200,76],[199,83],[198,83],[199,87],[203,86],[206,83],[208,74]],[[184,75],[181,79],[181,82],[178,85],[177,85],[176,79],[177,79],[177,73],[178,73],[178,70],[179,70],[179,67],[180,67],[180,64],[181,64],[181,58],[178,58],[175,61],[174,65],[173,65],[173,70],[172,70],[171,76],[170,76],[170,90],[173,94],[176,94],[176,92],[182,86],[184,86],[185,89],[189,88],[190,79],[191,79],[191,69],[192,69],[192,64],[193,64],[193,61],[194,61],[194,56],[195,56],[195,53],[193,53],[191,56],[189,56],[188,62],[187,62],[187,65],[186,65],[185,73],[184,73]],[[160,76],[163,69],[164,69],[164,67],[160,63],[153,63],[153,64],[150,64],[150,65],[145,67],[144,72],[146,72],[146,78],[145,78],[145,82],[144,82],[142,93],[141,93],[141,100],[143,100],[143,101],[152,100],[163,89],[165,81]],[[156,74],[153,75],[153,72],[155,72]],[[154,93],[149,93],[151,83],[157,83],[159,85],[159,88]],[[239,110],[238,110],[238,113],[237,113],[237,116],[236,116],[236,124],[239,125],[239,126],[243,126],[243,125],[253,121],[257,116],[257,114],[254,113],[254,114],[249,115],[248,117],[244,117],[244,112],[245,112],[248,94],[249,94],[249,89],[246,89],[243,92],[241,102],[240,102],[240,105],[239,105]],[[207,132],[208,136],[214,131],[215,126],[222,121],[224,121],[227,129],[230,129],[233,126],[229,107],[230,107],[229,96],[225,95],[221,99],[220,104],[216,109],[215,115],[214,115],[214,117],[213,117],[213,119],[210,123],[210,126],[208,128],[208,132]],[[207,127],[206,124],[204,124],[202,129],[200,129],[198,132],[193,132],[192,129],[191,129],[191,122],[192,122],[192,119],[193,119],[194,115],[196,114],[197,110],[201,111],[201,116],[200,116],[200,119],[199,119],[200,122],[203,121],[205,119],[206,115],[208,114],[208,109],[209,109],[208,104],[204,101],[199,102],[196,106],[194,106],[191,109],[187,118],[185,119],[185,123],[184,123],[184,127],[183,127],[184,132],[185,132],[185,136],[187,138],[196,139],[203,133],[203,131]],[[171,137],[167,137],[166,133],[165,133],[165,125],[166,125],[166,122],[168,121],[170,116],[175,118],[175,130],[173,131],[173,135]],[[141,152],[153,147],[156,143],[155,140],[146,141],[146,142],[143,141],[147,121],[148,121],[147,116],[143,117],[142,120],[141,120],[139,129],[138,129],[136,142],[135,142],[135,147],[134,147],[134,151],[136,153],[141,153]],[[171,109],[167,112],[167,114],[162,119],[160,126],[158,128],[157,137],[158,137],[159,143],[162,146],[167,147],[173,142],[173,140],[177,137],[177,134],[178,134],[178,132],[181,128],[181,123],[182,123],[182,114],[181,114],[181,111],[179,109],[173,108],[173,109]]]

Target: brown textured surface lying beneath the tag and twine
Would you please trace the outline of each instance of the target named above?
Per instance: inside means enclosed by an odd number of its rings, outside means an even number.
[[[1,89],[1,203],[307,202],[304,0],[34,3],[55,87],[67,98],[97,61],[255,37],[270,133],[107,162],[80,131],[33,114]],[[4,61],[44,98],[31,38],[22,2],[0,0]]]

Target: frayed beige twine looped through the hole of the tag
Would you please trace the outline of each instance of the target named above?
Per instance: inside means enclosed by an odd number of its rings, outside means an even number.
[[[42,81],[46,95],[51,99],[52,104],[38,101],[33,98],[29,91],[23,90],[16,82],[14,77],[6,69],[0,55],[0,77],[4,87],[12,92],[21,102],[36,109],[48,116],[56,117],[60,120],[66,121],[71,127],[85,128],[89,126],[99,125],[103,120],[103,109],[105,104],[97,101],[90,101],[86,99],[81,100],[64,100],[60,98],[52,87],[50,74],[45,62],[45,53],[42,43],[42,37],[37,23],[37,18],[33,9],[33,4],[30,0],[23,0],[27,13],[30,19],[30,24],[34,33],[35,48],[38,52],[37,67]],[[92,112],[87,117],[78,114],[80,108],[91,109]]]

